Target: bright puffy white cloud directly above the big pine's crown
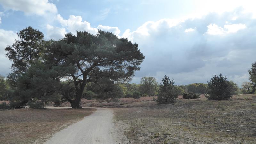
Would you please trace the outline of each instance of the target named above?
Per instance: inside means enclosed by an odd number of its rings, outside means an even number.
[[[83,21],[81,16],[70,15],[68,20],[63,19],[60,14],[57,15],[56,20],[60,22],[60,24],[67,28],[68,31],[76,35],[76,31],[86,30],[92,34],[97,34],[98,29],[92,28],[91,24],[87,21]]]

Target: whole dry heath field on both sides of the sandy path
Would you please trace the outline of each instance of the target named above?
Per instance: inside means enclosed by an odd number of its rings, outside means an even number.
[[[131,143],[256,143],[256,95],[232,100],[182,99],[157,105],[153,97],[119,102],[82,100],[83,106],[113,107]],[[69,106],[68,103],[67,105]],[[0,111],[0,143],[43,143],[95,109],[15,109]],[[89,131],[89,130],[88,130]]]

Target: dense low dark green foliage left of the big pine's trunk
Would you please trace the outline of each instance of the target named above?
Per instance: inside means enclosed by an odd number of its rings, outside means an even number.
[[[28,68],[28,71],[17,79],[17,85],[10,96],[14,108],[23,108],[28,101],[40,99],[44,102],[51,101],[61,88],[59,81],[51,75],[56,75],[41,62]]]

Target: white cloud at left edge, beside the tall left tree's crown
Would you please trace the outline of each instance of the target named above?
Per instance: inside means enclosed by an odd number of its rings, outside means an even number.
[[[7,45],[12,45],[15,39],[18,39],[18,36],[13,31],[6,31],[0,29],[0,74],[6,76],[10,70],[12,62],[5,57],[4,48]]]

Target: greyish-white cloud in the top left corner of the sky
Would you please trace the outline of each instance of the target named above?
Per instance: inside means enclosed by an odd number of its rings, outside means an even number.
[[[46,15],[48,13],[57,13],[57,8],[48,0],[0,0],[6,10],[22,11],[27,15]]]

